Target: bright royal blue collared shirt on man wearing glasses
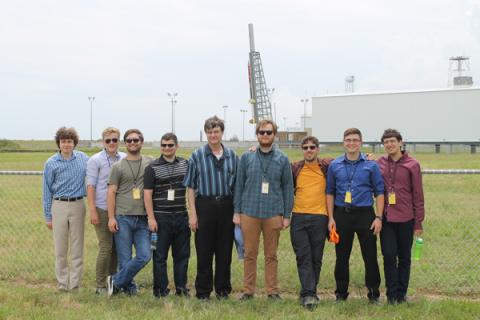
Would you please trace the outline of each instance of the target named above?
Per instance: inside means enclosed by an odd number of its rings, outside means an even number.
[[[339,207],[369,207],[372,195],[383,194],[383,178],[375,161],[367,161],[362,153],[356,161],[340,156],[332,161],[327,173],[327,194],[335,196]],[[352,203],[345,203],[347,191],[352,193]]]

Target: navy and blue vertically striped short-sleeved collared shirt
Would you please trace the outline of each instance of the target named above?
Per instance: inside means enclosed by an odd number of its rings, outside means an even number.
[[[195,150],[188,160],[188,171],[183,185],[195,190],[197,196],[233,196],[238,157],[222,145],[220,159],[206,144]]]

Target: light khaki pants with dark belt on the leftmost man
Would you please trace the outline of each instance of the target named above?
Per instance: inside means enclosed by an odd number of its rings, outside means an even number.
[[[55,244],[55,274],[58,287],[64,290],[78,288],[83,273],[84,201],[54,200],[52,204],[52,225]],[[70,273],[68,270],[69,244]]]

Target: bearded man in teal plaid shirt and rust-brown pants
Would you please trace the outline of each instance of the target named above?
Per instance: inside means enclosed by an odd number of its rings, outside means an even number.
[[[244,244],[244,276],[241,300],[253,298],[257,280],[260,234],[265,254],[265,287],[268,298],[280,299],[277,285],[277,249],[280,230],[288,228],[293,208],[290,162],[273,142],[277,126],[262,120],[256,128],[259,148],[240,160],[235,183],[233,222],[241,226]]]

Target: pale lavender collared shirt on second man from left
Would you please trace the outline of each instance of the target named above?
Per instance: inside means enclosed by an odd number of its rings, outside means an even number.
[[[88,159],[87,162],[87,185],[95,188],[95,205],[107,210],[108,176],[112,165],[125,158],[124,152],[117,152],[114,158],[102,150]]]

